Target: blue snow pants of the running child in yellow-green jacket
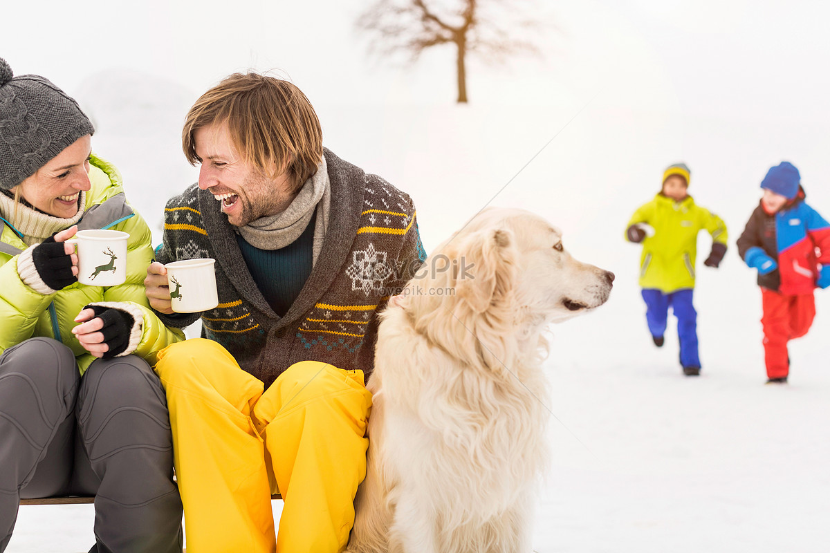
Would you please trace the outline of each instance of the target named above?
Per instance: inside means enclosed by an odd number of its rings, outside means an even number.
[[[669,306],[677,318],[677,337],[680,338],[681,366],[701,366],[697,353],[697,312],[691,304],[693,289],[681,289],[664,293],[657,289],[642,289],[646,301],[646,321],[652,336],[660,337],[666,332]]]

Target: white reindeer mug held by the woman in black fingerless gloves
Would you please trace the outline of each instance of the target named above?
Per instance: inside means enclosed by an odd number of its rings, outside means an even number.
[[[78,230],[71,240],[78,253],[78,282],[115,286],[127,279],[127,239],[120,230]]]

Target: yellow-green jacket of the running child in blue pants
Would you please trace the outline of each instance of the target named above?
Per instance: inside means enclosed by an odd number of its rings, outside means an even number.
[[[626,227],[637,223],[654,229],[642,240],[640,287],[663,293],[695,287],[698,232],[706,230],[713,243],[724,246],[728,239],[723,219],[697,206],[691,196],[675,201],[658,192],[634,211]]]

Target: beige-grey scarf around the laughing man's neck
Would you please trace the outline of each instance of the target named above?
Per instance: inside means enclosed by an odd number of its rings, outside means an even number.
[[[260,250],[285,248],[300,238],[316,208],[313,257],[316,262],[328,226],[330,197],[329,172],[323,158],[317,166],[317,172],[305,181],[291,205],[286,207],[286,211],[251,221],[247,226],[239,227],[239,234],[248,244]]]

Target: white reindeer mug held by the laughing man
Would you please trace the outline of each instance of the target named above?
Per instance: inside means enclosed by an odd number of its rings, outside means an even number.
[[[173,261],[164,265],[170,286],[170,306],[176,313],[199,313],[219,304],[216,273],[210,258]]]

